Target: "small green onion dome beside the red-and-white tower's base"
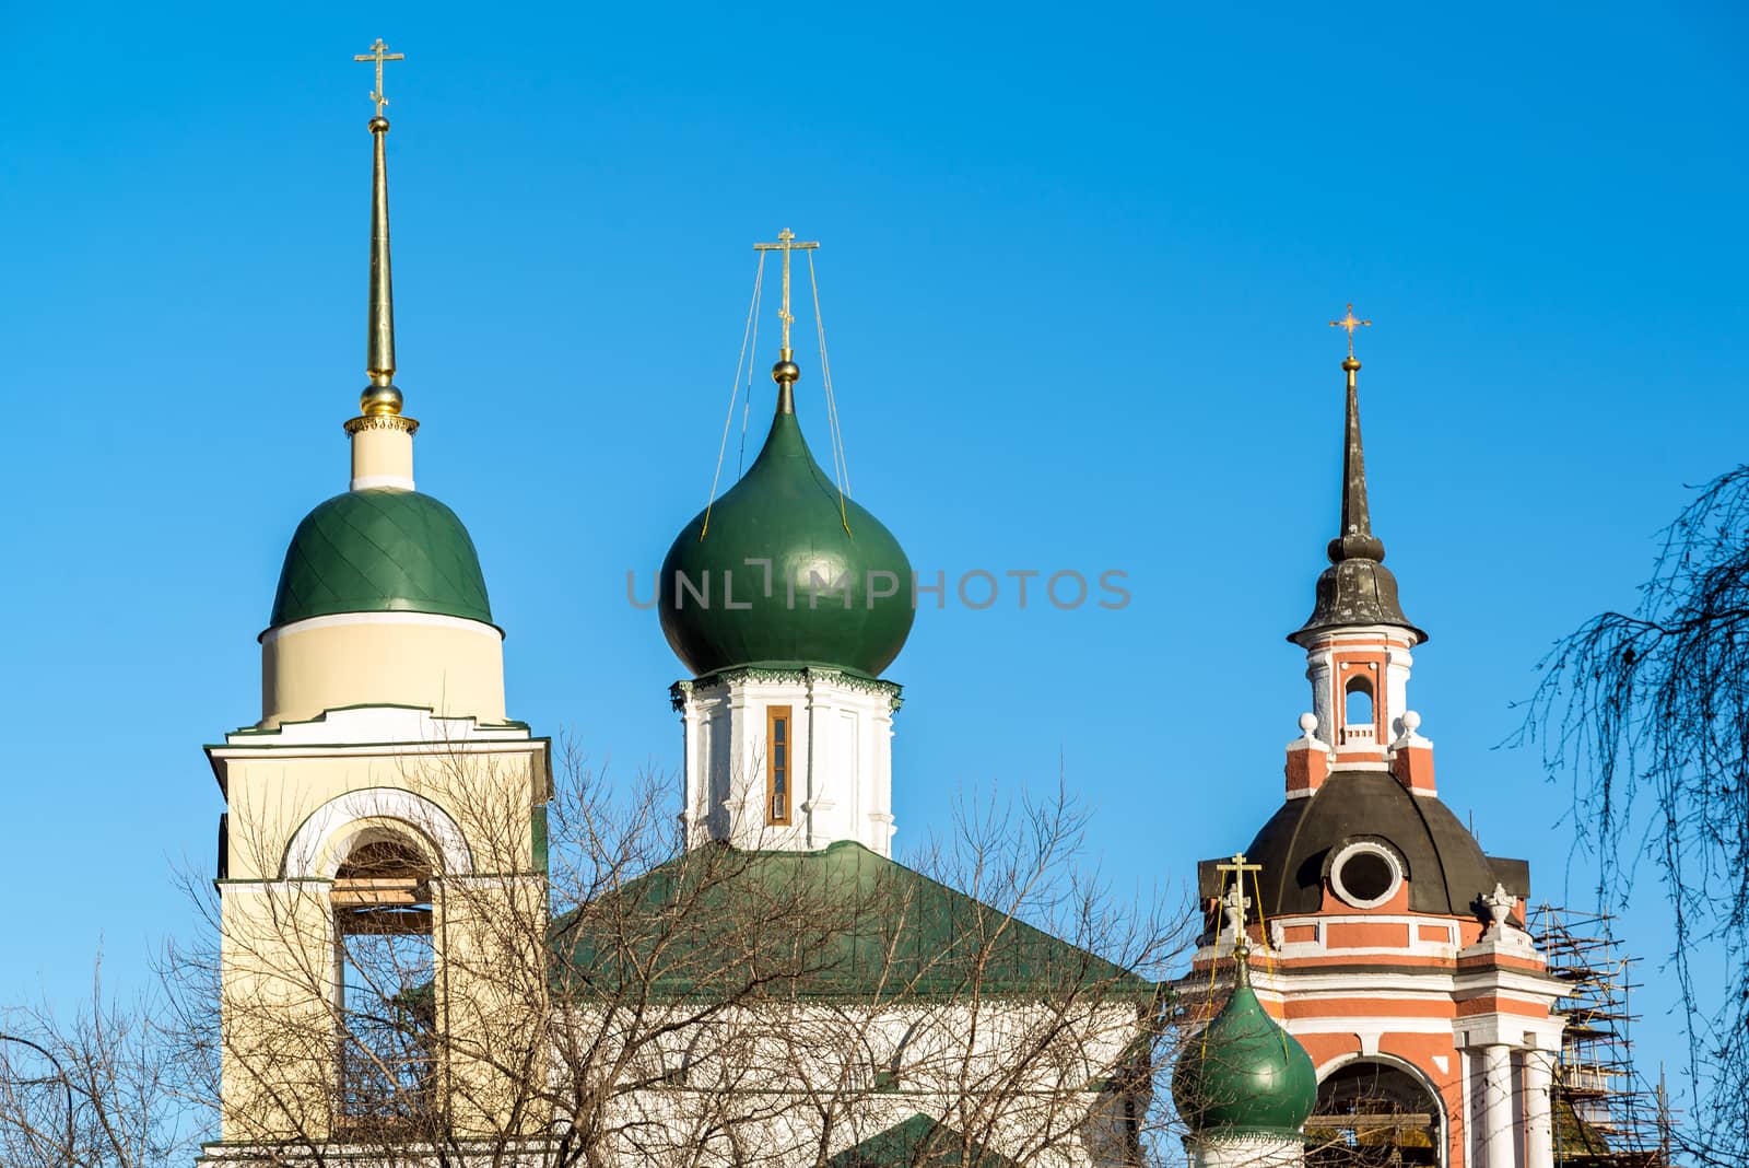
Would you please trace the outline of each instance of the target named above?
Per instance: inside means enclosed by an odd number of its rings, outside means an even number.
[[[1296,1137],[1312,1116],[1312,1056],[1263,1009],[1244,963],[1226,1005],[1179,1051],[1172,1102],[1191,1131]]]

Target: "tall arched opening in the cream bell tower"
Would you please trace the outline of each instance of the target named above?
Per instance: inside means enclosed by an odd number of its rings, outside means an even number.
[[[334,873],[343,1123],[404,1123],[436,1102],[430,878],[423,853],[394,838],[357,843]]]

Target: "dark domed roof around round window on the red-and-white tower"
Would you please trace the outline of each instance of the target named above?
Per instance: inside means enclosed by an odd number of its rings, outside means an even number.
[[[1530,893],[1529,866],[1483,855],[1439,799],[1410,794],[1383,771],[1336,771],[1313,796],[1284,803],[1245,848],[1245,859],[1263,866],[1258,883],[1265,914],[1319,911],[1331,855],[1362,838],[1383,839],[1403,857],[1410,911],[1476,913],[1480,897],[1495,883],[1518,897]],[[1205,897],[1219,893],[1214,864],[1200,866]]]

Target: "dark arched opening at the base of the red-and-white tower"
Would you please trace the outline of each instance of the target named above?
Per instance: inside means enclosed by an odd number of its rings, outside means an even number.
[[[1445,1163],[1445,1105],[1417,1075],[1385,1061],[1343,1063],[1317,1089],[1307,1121],[1308,1168]]]

